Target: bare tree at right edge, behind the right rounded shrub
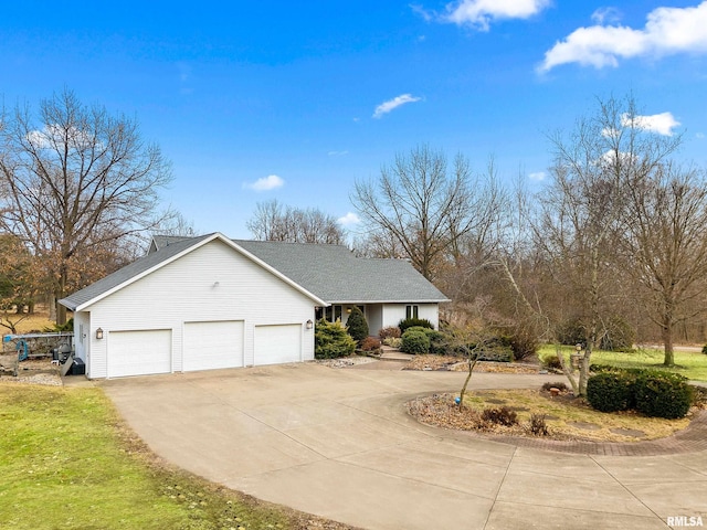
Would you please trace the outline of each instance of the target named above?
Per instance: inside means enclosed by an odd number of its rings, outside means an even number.
[[[676,326],[701,311],[697,300],[707,289],[707,178],[704,170],[664,163],[634,179],[629,197],[627,271],[647,294],[671,367]]]

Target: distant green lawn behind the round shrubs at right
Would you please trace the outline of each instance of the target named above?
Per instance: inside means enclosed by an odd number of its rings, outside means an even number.
[[[538,356],[544,359],[553,356],[556,347],[544,346]],[[562,347],[562,351],[569,354],[572,347]],[[655,348],[641,348],[632,352],[616,352],[595,350],[592,352],[591,362],[595,364],[612,364],[622,368],[651,368],[667,370],[685,375],[694,381],[707,381],[707,356],[700,352],[675,351],[675,367],[665,368],[663,365],[663,350]]]

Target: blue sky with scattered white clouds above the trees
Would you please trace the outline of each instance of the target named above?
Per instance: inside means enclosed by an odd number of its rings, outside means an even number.
[[[67,86],[136,117],[166,201],[233,237],[272,199],[356,230],[356,179],[420,144],[537,189],[547,135],[612,94],[707,166],[707,1],[24,0],[0,65],[6,106]]]

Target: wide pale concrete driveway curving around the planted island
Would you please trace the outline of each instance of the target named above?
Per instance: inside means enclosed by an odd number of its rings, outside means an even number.
[[[405,414],[405,401],[458,391],[465,374],[367,368],[288,364],[101,385],[166,459],[357,527],[646,530],[689,521],[668,519],[677,517],[707,524],[707,451],[568,455],[426,427]],[[472,381],[492,389],[547,380]]]

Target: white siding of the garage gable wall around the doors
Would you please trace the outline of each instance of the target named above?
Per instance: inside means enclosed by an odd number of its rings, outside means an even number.
[[[86,308],[91,315],[91,379],[108,377],[106,340],[95,329],[171,330],[171,371],[183,365],[184,322],[243,321],[240,365],[254,363],[254,327],[314,318],[314,301],[225,243],[214,240]],[[189,348],[189,347],[187,347]],[[314,359],[314,330],[304,331],[302,360]]]

